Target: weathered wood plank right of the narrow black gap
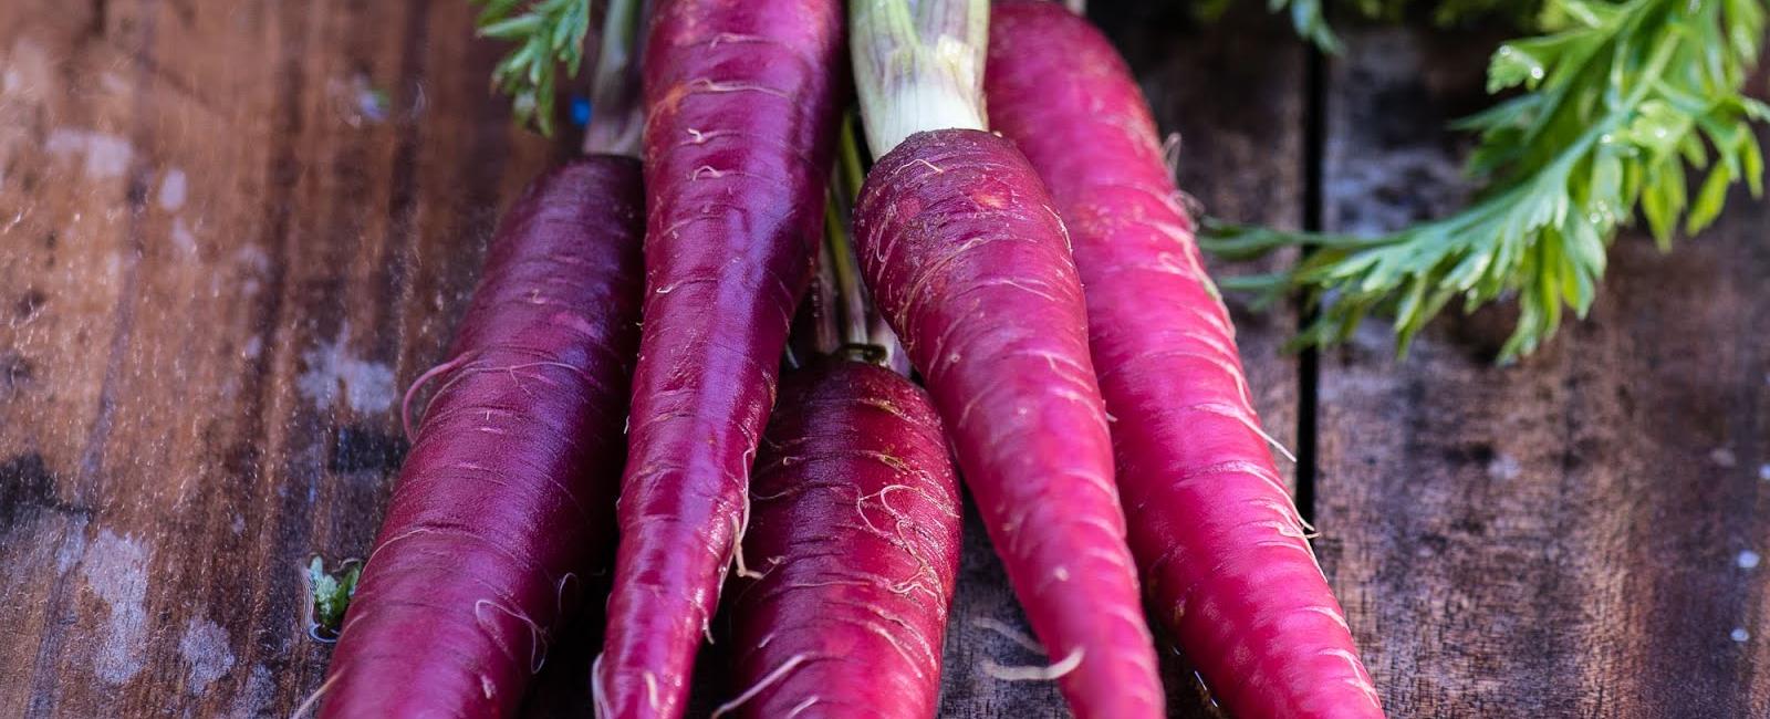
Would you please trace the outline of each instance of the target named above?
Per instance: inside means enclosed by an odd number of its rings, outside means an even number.
[[[1356,32],[1329,76],[1326,218],[1451,209],[1443,122],[1492,37]],[[1660,255],[1623,237],[1591,319],[1492,367],[1506,310],[1320,370],[1317,544],[1391,715],[1770,715],[1770,209]]]

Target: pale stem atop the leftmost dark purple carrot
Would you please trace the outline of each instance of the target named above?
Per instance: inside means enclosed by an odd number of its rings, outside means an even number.
[[[639,156],[644,112],[639,103],[641,0],[609,0],[596,48],[596,74],[589,83],[589,126],[584,154]]]

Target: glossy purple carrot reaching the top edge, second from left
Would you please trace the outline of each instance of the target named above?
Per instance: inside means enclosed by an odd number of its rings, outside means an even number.
[[[644,331],[591,673],[602,715],[681,715],[821,241],[841,50],[837,0],[664,0],[651,18]]]

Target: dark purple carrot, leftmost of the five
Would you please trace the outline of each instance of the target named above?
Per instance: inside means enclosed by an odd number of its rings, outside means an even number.
[[[504,214],[333,653],[324,717],[513,715],[614,549],[639,349],[639,163]]]

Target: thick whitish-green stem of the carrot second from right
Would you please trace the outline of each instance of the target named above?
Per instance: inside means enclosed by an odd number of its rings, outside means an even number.
[[[873,156],[929,129],[984,129],[989,0],[853,0],[850,46]]]

